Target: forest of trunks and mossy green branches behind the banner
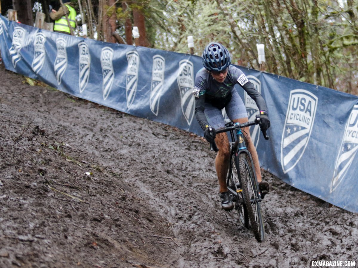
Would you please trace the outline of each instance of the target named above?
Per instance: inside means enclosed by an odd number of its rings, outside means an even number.
[[[252,69],[256,44],[265,44],[265,71],[358,95],[358,0],[71,0],[74,35],[201,56],[209,42],[225,45],[232,63]],[[1,0],[1,14],[18,12],[34,25],[37,11],[49,19],[60,0]]]

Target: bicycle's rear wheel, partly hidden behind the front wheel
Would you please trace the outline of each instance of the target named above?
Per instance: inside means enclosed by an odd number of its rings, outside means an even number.
[[[233,195],[232,199],[235,203],[235,210],[239,216],[240,223],[246,228],[249,228],[249,218],[248,218],[245,202],[243,201],[243,194],[240,186],[237,161],[236,161],[236,156],[234,154],[231,157],[231,165],[232,168],[228,180],[228,187],[234,191],[234,193],[232,193]]]

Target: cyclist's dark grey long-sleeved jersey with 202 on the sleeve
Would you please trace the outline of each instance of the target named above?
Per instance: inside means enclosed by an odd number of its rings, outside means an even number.
[[[213,104],[223,102],[227,97],[231,98],[229,94],[234,88],[235,84],[239,84],[247,94],[256,102],[258,109],[267,111],[265,100],[261,94],[255,89],[255,86],[247,79],[246,75],[237,67],[230,65],[223,83],[216,81],[212,75],[202,68],[195,76],[195,85],[193,94],[195,96],[195,117],[203,130],[208,125],[208,121],[204,114],[205,100],[210,100]]]

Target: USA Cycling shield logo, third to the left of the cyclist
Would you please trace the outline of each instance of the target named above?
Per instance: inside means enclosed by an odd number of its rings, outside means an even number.
[[[137,91],[138,71],[139,71],[139,55],[136,51],[127,52],[127,79],[126,79],[126,95],[127,107],[129,108]]]

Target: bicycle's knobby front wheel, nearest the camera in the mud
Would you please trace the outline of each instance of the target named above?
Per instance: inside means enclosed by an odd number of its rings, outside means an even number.
[[[241,175],[242,193],[250,218],[252,232],[258,242],[263,242],[265,240],[265,227],[259,202],[261,198],[258,196],[258,183],[255,178],[255,170],[252,167],[251,158],[247,153],[239,155],[238,166]]]

